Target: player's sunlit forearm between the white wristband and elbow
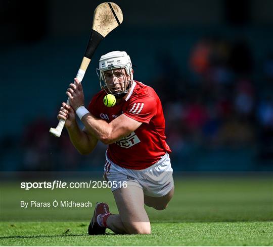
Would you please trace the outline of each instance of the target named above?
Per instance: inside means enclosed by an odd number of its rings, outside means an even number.
[[[112,140],[111,125],[93,114],[88,113],[81,118],[85,128],[104,144],[110,144]]]

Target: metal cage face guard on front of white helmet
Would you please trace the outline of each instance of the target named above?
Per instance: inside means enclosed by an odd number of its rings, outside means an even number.
[[[105,76],[106,71],[107,73],[111,73],[110,79],[107,79],[108,77]],[[115,73],[117,71],[122,73],[122,79],[116,77]],[[127,79],[124,77],[124,71],[128,75]],[[131,71],[127,73],[126,66],[110,68],[107,70],[97,69],[97,75],[100,80],[101,89],[103,89],[107,94],[113,94],[117,99],[123,98],[131,88],[132,73]]]

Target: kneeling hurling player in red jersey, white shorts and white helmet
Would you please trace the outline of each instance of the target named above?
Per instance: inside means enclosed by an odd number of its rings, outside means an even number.
[[[70,140],[79,153],[91,153],[98,141],[108,145],[104,178],[112,182],[119,214],[111,214],[106,203],[97,203],[88,233],[104,234],[110,228],[120,234],[150,234],[144,205],[163,210],[174,192],[162,105],[153,88],[133,80],[131,59],[125,51],[103,55],[97,73],[102,90],[87,109],[82,85],[75,79],[66,92],[70,106],[63,102],[58,114],[66,120]],[[117,99],[113,107],[103,103],[107,94]]]

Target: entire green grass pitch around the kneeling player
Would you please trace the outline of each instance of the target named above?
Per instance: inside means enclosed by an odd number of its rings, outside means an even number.
[[[175,179],[175,195],[164,211],[147,208],[151,235],[86,234],[94,208],[20,209],[20,200],[107,201],[105,190],[24,192],[1,184],[1,245],[273,245],[271,177]],[[80,192],[80,193],[78,193]],[[69,200],[69,199],[68,199]],[[26,221],[43,222],[26,222]],[[48,221],[48,222],[46,222]],[[64,222],[54,222],[64,221]],[[71,221],[71,222],[65,222]]]

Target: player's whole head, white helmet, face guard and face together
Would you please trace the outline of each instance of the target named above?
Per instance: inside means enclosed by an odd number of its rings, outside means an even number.
[[[107,76],[105,75],[107,72]],[[122,74],[118,73],[120,72]],[[126,72],[126,76],[124,76]],[[109,76],[109,73],[111,73]],[[123,98],[132,85],[131,59],[125,51],[112,51],[100,58],[100,69],[97,69],[101,88],[113,94],[117,99]]]

